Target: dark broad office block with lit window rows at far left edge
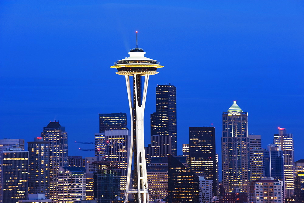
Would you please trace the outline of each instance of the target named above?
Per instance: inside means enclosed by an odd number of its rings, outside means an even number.
[[[29,151],[7,149],[1,156],[0,202],[16,203],[27,199]]]

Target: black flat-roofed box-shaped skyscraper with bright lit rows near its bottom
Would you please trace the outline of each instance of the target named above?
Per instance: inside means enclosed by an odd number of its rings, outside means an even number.
[[[189,163],[193,171],[203,171],[206,180],[213,180],[213,194],[217,191],[217,161],[215,153],[215,128],[189,128]]]

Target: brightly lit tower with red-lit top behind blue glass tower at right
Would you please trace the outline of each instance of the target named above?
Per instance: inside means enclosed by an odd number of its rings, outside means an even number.
[[[293,139],[292,134],[286,133],[285,128],[278,128],[279,134],[274,135],[273,143],[280,146],[284,156],[284,186],[285,198],[291,197],[294,194],[294,156],[293,156]]]

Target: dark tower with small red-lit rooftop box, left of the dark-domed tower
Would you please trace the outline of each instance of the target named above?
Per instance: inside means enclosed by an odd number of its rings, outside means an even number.
[[[44,193],[49,197],[50,187],[50,142],[36,137],[27,142],[29,151],[29,194]]]

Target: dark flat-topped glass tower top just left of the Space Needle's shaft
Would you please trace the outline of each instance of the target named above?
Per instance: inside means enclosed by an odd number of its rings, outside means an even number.
[[[105,130],[128,130],[127,114],[99,114],[99,133]]]

